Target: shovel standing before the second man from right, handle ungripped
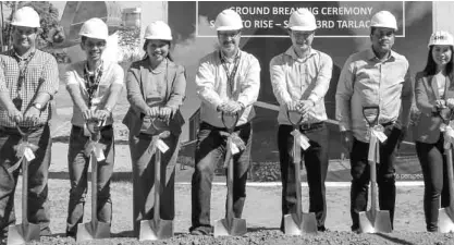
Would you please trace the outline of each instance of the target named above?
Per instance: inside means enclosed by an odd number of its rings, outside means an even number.
[[[369,124],[369,133],[371,138],[369,156],[373,154],[375,157],[368,157],[370,166],[370,196],[371,204],[369,211],[359,212],[359,229],[361,233],[390,233],[392,232],[390,211],[379,210],[377,206],[377,159],[380,156],[379,143],[372,131],[383,132],[381,125],[378,124],[380,109],[379,107],[364,107],[363,114]],[[370,120],[370,117],[373,117]],[[372,142],[375,140],[375,142]],[[373,159],[370,159],[373,158]]]

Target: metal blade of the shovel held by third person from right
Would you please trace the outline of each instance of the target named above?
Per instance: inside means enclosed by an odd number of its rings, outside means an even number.
[[[286,235],[302,235],[303,233],[317,233],[317,219],[314,212],[302,213],[298,220],[296,213],[284,216],[284,233]]]

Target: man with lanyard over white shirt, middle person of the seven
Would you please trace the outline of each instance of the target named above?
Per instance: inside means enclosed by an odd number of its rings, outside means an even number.
[[[240,218],[246,199],[253,130],[250,120],[260,89],[260,64],[240,49],[243,28],[241,16],[233,10],[218,14],[216,22],[219,49],[200,60],[196,75],[197,95],[201,100],[200,126],[197,134],[196,167],[192,181],[192,228],[194,235],[211,232],[211,182],[218,159],[225,155],[226,133],[221,114],[240,113],[233,137],[238,145],[234,160],[233,211]]]

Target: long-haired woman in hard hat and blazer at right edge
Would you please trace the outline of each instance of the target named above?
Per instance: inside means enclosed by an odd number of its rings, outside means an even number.
[[[450,205],[444,152],[451,144],[444,145],[450,139],[444,138],[440,127],[441,118],[454,109],[453,45],[450,33],[433,33],[426,68],[416,74],[415,96],[420,115],[414,122],[414,133],[425,181],[424,210],[429,232],[439,231],[439,208]]]

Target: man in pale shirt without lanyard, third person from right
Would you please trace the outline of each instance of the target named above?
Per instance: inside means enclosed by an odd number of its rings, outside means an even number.
[[[316,17],[309,10],[294,11],[289,21],[292,47],[270,62],[271,85],[280,105],[278,147],[282,176],[282,231],[283,217],[296,212],[294,176],[297,173],[292,157],[293,126],[287,119],[287,111],[303,117],[299,132],[307,136],[310,144],[310,147],[302,150],[309,186],[309,212],[316,213],[318,230],[326,231],[324,180],[329,138],[323,97],[330,86],[333,62],[331,57],[311,47],[316,29]]]

